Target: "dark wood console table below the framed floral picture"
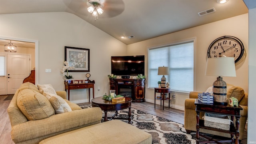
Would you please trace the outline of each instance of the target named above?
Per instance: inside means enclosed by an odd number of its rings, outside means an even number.
[[[75,81],[82,81],[82,80],[75,80]],[[86,80],[87,81],[87,80]],[[89,102],[90,102],[90,88],[92,88],[92,96],[94,98],[94,80],[90,81],[88,83],[77,83],[73,84],[73,81],[71,81],[70,84],[68,82],[64,82],[65,84],[65,90],[68,90],[68,100],[69,100],[69,92],[70,90],[75,90],[75,89],[83,89],[83,88],[89,88]]]

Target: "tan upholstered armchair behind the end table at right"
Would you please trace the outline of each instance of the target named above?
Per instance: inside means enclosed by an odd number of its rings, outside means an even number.
[[[186,129],[187,133],[190,133],[190,131],[196,131],[196,111],[195,111],[196,106],[194,102],[195,102],[195,99],[198,97],[198,93],[202,93],[202,92],[190,92],[189,98],[185,100],[184,128]],[[227,99],[230,96],[237,98],[238,104],[243,108],[243,110],[240,111],[240,115],[241,115],[241,118],[239,120],[240,136],[238,138],[239,140],[242,140],[242,136],[244,134],[244,128],[247,120],[247,113],[248,113],[248,106],[247,106],[248,94],[244,93],[244,90],[239,86],[233,86],[233,85],[227,84]],[[200,119],[202,119],[203,116],[204,116],[204,113],[200,112]],[[236,118],[234,118],[234,122],[235,120]],[[205,130],[205,129],[200,129],[200,132],[230,138],[230,134],[226,134],[223,132],[216,132],[216,131]]]

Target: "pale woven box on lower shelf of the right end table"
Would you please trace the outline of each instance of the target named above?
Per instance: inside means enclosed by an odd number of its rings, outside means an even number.
[[[226,115],[204,113],[203,119],[204,126],[221,130],[230,130],[230,122],[232,121]]]

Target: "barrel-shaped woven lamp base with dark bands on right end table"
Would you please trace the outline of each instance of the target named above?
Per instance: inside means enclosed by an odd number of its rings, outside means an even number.
[[[222,80],[221,77],[218,77],[213,83],[212,92],[214,102],[227,102],[227,84]]]

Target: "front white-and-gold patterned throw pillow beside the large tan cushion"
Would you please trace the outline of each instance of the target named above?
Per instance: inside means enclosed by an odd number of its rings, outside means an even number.
[[[43,92],[43,95],[50,101],[56,114],[72,111],[68,103],[62,97],[49,92]]]

